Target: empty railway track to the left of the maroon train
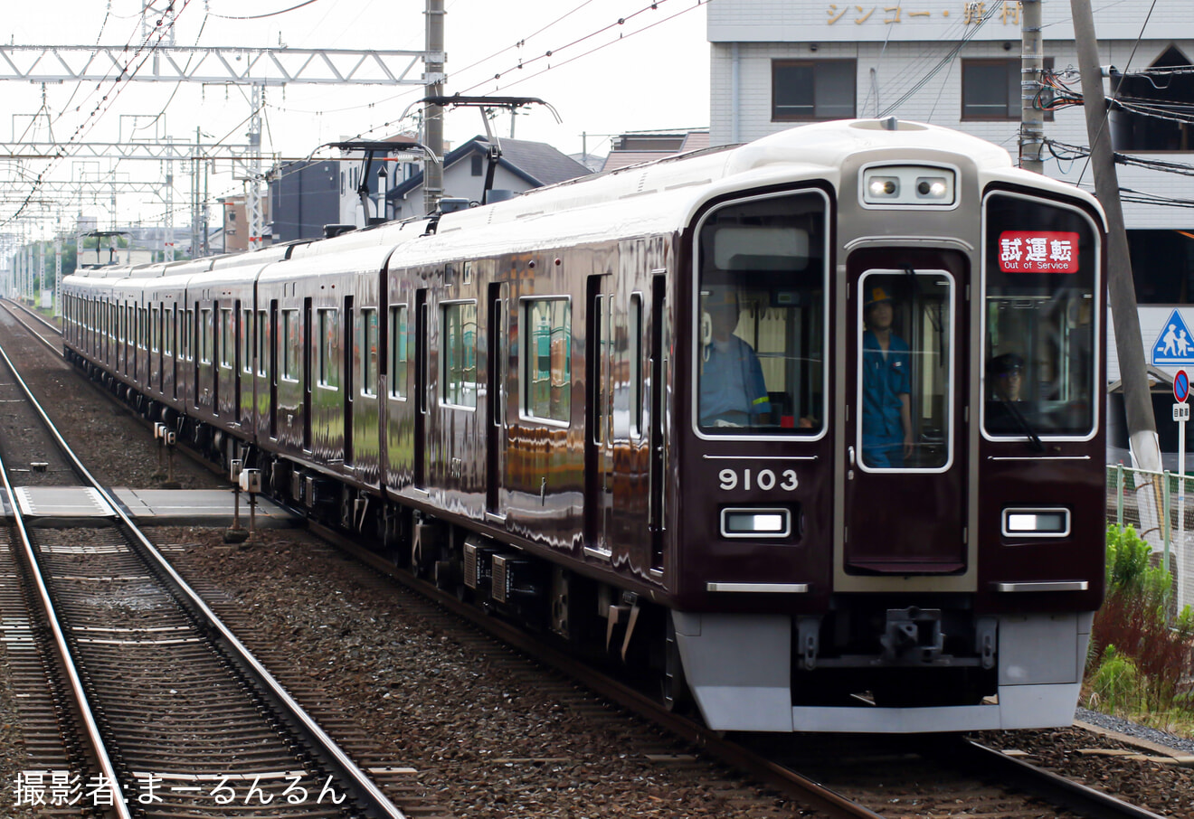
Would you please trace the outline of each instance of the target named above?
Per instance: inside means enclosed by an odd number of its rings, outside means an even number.
[[[2,351],[0,358],[12,368]],[[0,377],[11,380],[5,392],[23,386],[16,371]],[[36,400],[26,395],[24,404],[64,448]],[[10,462],[25,445],[27,438],[0,435]],[[35,596],[18,593],[17,584],[4,587],[5,636],[10,645],[19,640],[19,652],[54,658],[42,660],[43,688],[56,698],[53,725],[33,723],[30,743],[50,750],[30,758],[47,768],[24,772],[18,805],[49,796],[61,802],[55,807],[81,802],[116,817],[404,815],[73,454],[63,455],[74,474],[57,472],[56,487],[14,487],[11,467],[2,470],[7,497],[18,500],[11,504],[5,558],[16,564],[23,555],[24,566],[11,573],[37,590]],[[68,509],[80,503],[92,511],[76,516]],[[27,605],[35,597],[38,605]],[[30,659],[19,685],[37,688],[36,665]],[[63,739],[55,743],[43,732]]]

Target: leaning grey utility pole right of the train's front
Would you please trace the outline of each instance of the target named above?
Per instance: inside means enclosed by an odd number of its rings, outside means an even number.
[[[1149,394],[1145,371],[1144,341],[1140,338],[1140,316],[1135,309],[1119,174],[1112,155],[1110,129],[1107,128],[1107,99],[1103,96],[1103,73],[1098,66],[1095,18],[1090,11],[1090,0],[1070,0],[1070,10],[1073,17],[1073,38],[1078,47],[1078,68],[1082,72],[1082,106],[1087,113],[1095,196],[1107,213],[1107,295],[1115,325],[1128,442],[1132,457],[1140,469],[1161,472],[1161,445],[1157,442],[1157,421],[1152,414],[1152,396]]]

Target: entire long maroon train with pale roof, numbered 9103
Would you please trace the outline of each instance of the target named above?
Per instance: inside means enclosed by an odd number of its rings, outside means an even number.
[[[1103,236],[1002,148],[835,122],[80,270],[66,351],[714,728],[1069,725],[1103,585]]]

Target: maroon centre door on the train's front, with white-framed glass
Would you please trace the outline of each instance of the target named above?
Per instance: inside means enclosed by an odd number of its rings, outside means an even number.
[[[847,575],[967,569],[965,270],[898,248],[847,265]]]

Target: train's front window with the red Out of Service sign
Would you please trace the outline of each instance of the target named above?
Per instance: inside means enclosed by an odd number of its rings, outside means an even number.
[[[1098,248],[1079,211],[996,193],[985,209],[983,429],[1085,438],[1095,429]]]

